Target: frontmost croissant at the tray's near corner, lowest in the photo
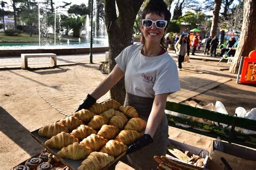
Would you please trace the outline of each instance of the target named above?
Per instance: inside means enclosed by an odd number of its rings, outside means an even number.
[[[114,157],[102,152],[92,152],[82,161],[78,170],[98,170],[103,169],[114,160]]]

